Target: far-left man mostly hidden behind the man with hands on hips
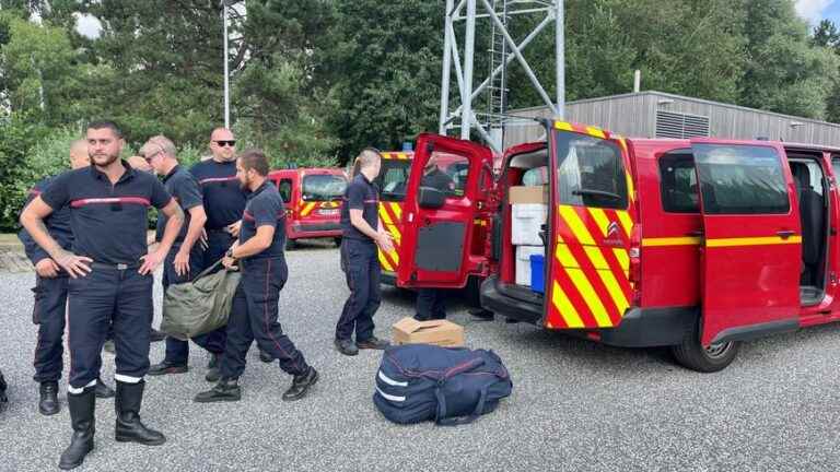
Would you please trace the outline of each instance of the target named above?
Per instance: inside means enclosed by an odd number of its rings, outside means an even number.
[[[73,169],[90,165],[88,143],[75,141],[70,146],[70,166]],[[54,178],[46,178],[33,187],[26,200],[28,204],[49,186]],[[50,214],[45,224],[50,236],[63,249],[69,250],[73,244],[73,232],[70,227],[70,206],[65,206]],[[67,272],[62,271],[49,255],[32,239],[26,229],[21,229],[18,237],[23,243],[26,257],[35,267],[35,304],[32,321],[38,326],[38,341],[35,345],[35,377],[39,384],[38,411],[43,415],[54,415],[59,412],[58,380],[63,370],[63,335],[65,314],[67,311]],[[96,397],[114,397],[114,390],[102,379],[96,382]]]

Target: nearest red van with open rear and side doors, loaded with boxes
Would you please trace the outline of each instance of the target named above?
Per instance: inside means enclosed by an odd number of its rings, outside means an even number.
[[[743,341],[840,318],[840,149],[545,126],[547,141],[506,151],[497,180],[487,148],[419,137],[400,286],[462,287],[477,275],[497,314],[610,345],[669,346],[699,371],[725,368]],[[462,196],[420,186],[432,153],[468,163]],[[523,190],[541,167],[545,186]],[[529,286],[513,243],[523,194],[547,209]]]

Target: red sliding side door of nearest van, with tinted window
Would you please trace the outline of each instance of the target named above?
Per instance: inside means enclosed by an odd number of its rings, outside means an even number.
[[[798,326],[802,229],[784,149],[691,140],[703,216],[704,346]]]

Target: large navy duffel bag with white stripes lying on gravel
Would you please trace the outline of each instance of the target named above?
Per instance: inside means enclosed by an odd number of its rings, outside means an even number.
[[[385,350],[373,403],[394,423],[470,423],[495,410],[513,384],[492,351],[407,344]]]

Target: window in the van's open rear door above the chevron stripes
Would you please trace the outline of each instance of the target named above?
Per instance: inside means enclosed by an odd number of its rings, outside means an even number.
[[[561,204],[627,209],[627,176],[614,142],[558,132],[557,169]]]

